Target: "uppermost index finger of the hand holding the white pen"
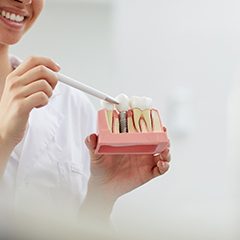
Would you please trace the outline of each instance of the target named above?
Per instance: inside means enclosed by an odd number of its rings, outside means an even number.
[[[21,76],[24,73],[28,72],[30,69],[35,68],[37,66],[45,66],[49,69],[51,69],[54,72],[58,72],[60,70],[60,67],[57,63],[55,63],[50,58],[45,57],[30,57],[27,60],[25,60],[22,64],[20,64],[14,71],[14,74],[16,76]]]

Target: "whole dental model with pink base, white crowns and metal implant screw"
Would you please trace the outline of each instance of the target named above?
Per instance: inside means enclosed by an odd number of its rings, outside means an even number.
[[[99,154],[154,154],[169,145],[152,99],[120,94],[118,105],[102,102],[98,112]]]

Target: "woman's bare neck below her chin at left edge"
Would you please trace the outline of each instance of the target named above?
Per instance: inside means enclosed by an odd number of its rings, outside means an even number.
[[[8,46],[0,44],[0,99],[8,74],[12,71],[8,56]]]

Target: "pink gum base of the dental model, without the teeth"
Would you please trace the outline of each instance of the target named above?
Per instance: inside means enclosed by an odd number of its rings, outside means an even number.
[[[112,133],[106,117],[107,110],[98,112],[97,154],[155,154],[169,147],[165,128],[146,133]],[[160,118],[159,118],[160,119]]]

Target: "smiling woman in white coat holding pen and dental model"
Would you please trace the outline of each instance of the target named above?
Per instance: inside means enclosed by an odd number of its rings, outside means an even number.
[[[118,197],[168,170],[169,150],[94,154],[96,112],[88,98],[58,83],[53,60],[9,55],[43,5],[0,1],[0,198],[14,206],[36,199],[41,206],[68,203],[77,214],[81,206],[79,214],[107,219]]]

